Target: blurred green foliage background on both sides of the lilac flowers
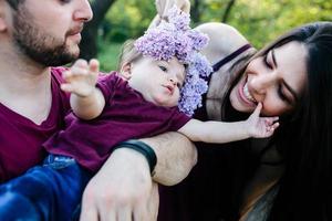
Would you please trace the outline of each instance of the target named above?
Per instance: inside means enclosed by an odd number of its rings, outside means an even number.
[[[203,22],[221,21],[229,0],[199,0]],[[191,2],[193,3],[193,2]],[[108,10],[98,36],[102,70],[116,69],[122,42],[142,35],[156,14],[154,0],[117,0]],[[286,31],[313,21],[332,21],[328,0],[236,0],[227,23],[261,48]]]

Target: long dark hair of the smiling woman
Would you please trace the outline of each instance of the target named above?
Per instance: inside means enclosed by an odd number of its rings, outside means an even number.
[[[294,29],[249,62],[292,41],[308,50],[308,81],[295,109],[281,116],[271,140],[284,157],[286,170],[269,221],[332,220],[332,22]],[[224,101],[222,116],[228,119],[234,114],[227,113],[230,105]]]

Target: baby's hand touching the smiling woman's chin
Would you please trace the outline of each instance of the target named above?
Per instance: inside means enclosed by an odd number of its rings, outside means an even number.
[[[259,103],[255,112],[246,120],[247,130],[250,137],[263,138],[273,135],[276,128],[279,126],[277,122],[279,117],[260,117],[260,110],[262,108],[261,103]]]

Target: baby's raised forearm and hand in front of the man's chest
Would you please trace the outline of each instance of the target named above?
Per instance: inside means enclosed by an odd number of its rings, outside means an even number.
[[[75,115],[82,119],[97,117],[104,106],[105,98],[102,92],[95,86],[100,64],[96,60],[89,63],[77,60],[70,71],[63,73],[66,83],[61,88],[71,94],[71,107]]]

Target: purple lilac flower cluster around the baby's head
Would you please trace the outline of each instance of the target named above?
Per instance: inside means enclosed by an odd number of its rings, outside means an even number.
[[[187,65],[178,108],[191,116],[201,106],[201,95],[208,90],[206,78],[212,72],[207,59],[198,52],[207,44],[208,36],[190,29],[190,15],[177,7],[169,9],[167,15],[168,22],[163,20],[159,25],[148,29],[136,40],[135,48],[155,60],[168,61],[176,56]]]

